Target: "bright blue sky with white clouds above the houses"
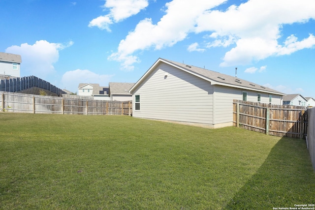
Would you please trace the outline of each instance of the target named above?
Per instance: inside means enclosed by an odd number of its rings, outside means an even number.
[[[164,58],[315,98],[314,0],[0,0],[0,52],[59,88]]]

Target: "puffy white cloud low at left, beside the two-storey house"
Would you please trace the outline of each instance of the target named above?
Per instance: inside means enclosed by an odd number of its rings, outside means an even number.
[[[66,44],[49,43],[46,40],[36,41],[35,44],[21,44],[6,48],[6,53],[21,55],[21,75],[34,75],[46,79],[48,75],[55,73],[54,63],[59,59],[59,51],[73,45],[70,41]]]

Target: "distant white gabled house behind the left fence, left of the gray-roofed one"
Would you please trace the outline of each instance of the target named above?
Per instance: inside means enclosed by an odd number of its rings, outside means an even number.
[[[109,100],[108,87],[100,87],[94,83],[80,83],[78,95],[93,96],[95,100]]]

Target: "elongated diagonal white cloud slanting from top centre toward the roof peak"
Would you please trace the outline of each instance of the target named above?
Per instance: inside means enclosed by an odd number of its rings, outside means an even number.
[[[118,52],[109,56],[110,60],[123,62],[127,69],[133,69],[133,62],[139,62],[136,51],[153,48],[160,50],[171,47],[187,38],[192,32],[197,17],[207,8],[212,8],[225,0],[173,0],[166,3],[166,14],[154,25],[150,18],[140,21],[118,46]],[[132,58],[132,59],[130,59]],[[126,62],[127,61],[127,62]],[[126,65],[128,63],[128,65]]]

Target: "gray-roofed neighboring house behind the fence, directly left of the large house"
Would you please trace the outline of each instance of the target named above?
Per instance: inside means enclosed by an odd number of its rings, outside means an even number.
[[[131,101],[132,94],[128,91],[134,83],[109,83],[109,96],[111,101]]]

